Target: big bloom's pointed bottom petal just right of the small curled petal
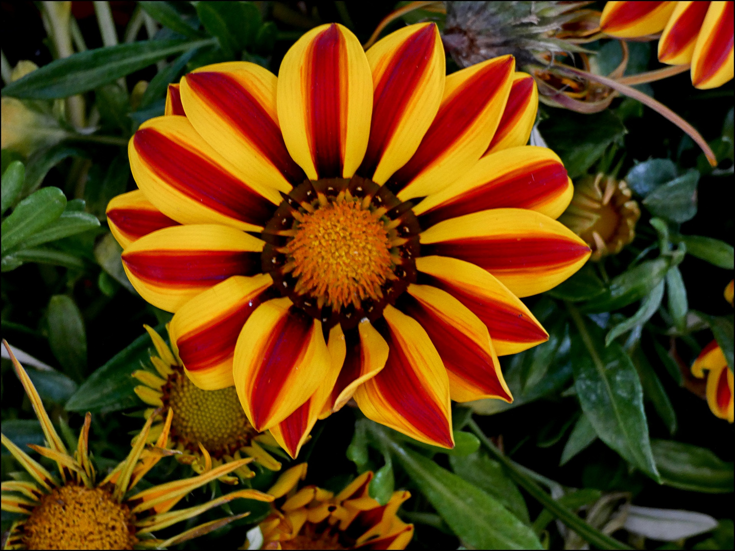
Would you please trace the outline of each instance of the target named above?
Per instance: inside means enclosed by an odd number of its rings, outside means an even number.
[[[376,329],[388,344],[385,367],[358,387],[354,398],[366,417],[420,442],[452,448],[449,379],[422,326],[390,304]]]

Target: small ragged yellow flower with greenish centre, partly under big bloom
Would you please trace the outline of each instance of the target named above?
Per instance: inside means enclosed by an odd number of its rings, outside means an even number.
[[[266,469],[280,470],[279,461],[262,447],[276,446],[278,449],[278,444],[270,434],[258,434],[248,423],[234,387],[221,390],[196,387],[184,375],[184,367],[161,336],[151,327],[145,327],[158,353],[151,356],[157,374],[141,369],[132,375],[143,383],[135,387],[135,393],[151,406],[144,412],[146,419],[154,418],[154,424],[148,431],[148,442],[155,442],[162,431],[167,430],[165,447],[178,451],[176,461],[190,464],[199,474],[223,463],[243,459],[243,456]],[[164,408],[176,412],[169,428],[161,415]],[[238,477],[254,476],[255,472],[243,464],[232,475],[224,475],[220,480],[237,484]]]

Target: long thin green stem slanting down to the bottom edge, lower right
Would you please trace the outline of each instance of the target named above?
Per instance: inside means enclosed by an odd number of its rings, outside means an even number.
[[[477,425],[474,419],[468,423],[470,430],[480,439],[480,442],[484,447],[492,454],[492,456],[506,467],[506,470],[510,477],[523,489],[526,490],[531,496],[533,496],[539,503],[542,504],[554,517],[564,522],[564,525],[570,530],[574,530],[582,538],[584,538],[590,545],[598,547],[599,549],[631,549],[631,547],[623,544],[622,541],[611,538],[610,536],[603,534],[600,530],[593,528],[591,525],[584,522],[583,519],[579,518],[569,508],[564,507],[561,503],[554,500],[551,495],[548,495],[544,490],[536,484],[523,470],[518,468],[514,461],[505,456],[501,450],[495,448],[495,445],[490,442],[481,428]]]

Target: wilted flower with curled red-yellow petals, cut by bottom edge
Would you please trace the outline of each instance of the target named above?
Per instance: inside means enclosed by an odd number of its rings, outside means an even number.
[[[405,549],[411,541],[413,525],[396,515],[410,492],[393,492],[381,506],[368,495],[371,471],[337,495],[317,486],[297,490],[305,477],[302,463],[284,472],[268,490],[276,501],[260,523],[262,549]]]

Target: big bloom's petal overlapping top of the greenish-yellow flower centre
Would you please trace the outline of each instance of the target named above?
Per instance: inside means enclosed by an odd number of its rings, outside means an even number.
[[[184,304],[168,332],[187,376],[204,390],[232,387],[232,357],[245,321],[259,304],[273,298],[265,291],[268,274],[233,276]]]

